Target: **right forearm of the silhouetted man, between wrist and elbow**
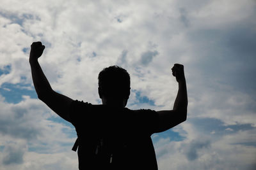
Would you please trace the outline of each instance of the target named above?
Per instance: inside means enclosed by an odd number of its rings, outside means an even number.
[[[179,90],[175,99],[173,110],[180,110],[187,112],[188,108],[188,94],[186,87],[186,80],[179,82]]]

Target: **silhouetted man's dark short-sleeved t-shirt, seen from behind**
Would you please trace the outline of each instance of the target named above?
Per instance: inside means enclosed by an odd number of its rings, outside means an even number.
[[[70,122],[78,139],[79,169],[157,169],[150,136],[158,114],[73,101]]]

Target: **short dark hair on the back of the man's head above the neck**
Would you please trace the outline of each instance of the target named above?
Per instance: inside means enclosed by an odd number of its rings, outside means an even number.
[[[108,98],[128,99],[130,95],[130,75],[119,66],[109,66],[100,71],[99,91]]]

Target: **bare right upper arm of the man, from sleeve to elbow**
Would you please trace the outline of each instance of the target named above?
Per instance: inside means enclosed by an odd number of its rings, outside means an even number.
[[[186,118],[177,110],[162,110],[157,111],[158,114],[158,129],[156,132],[164,132],[180,123],[184,122]]]

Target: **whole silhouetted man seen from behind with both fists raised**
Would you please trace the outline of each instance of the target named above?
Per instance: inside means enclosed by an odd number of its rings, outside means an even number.
[[[102,104],[74,101],[52,90],[39,63],[45,46],[31,45],[29,63],[38,98],[61,118],[76,127],[79,169],[157,169],[150,136],[184,122],[188,97],[184,67],[174,64],[179,83],[173,110],[129,110],[130,76],[125,69],[110,66],[99,73]]]

